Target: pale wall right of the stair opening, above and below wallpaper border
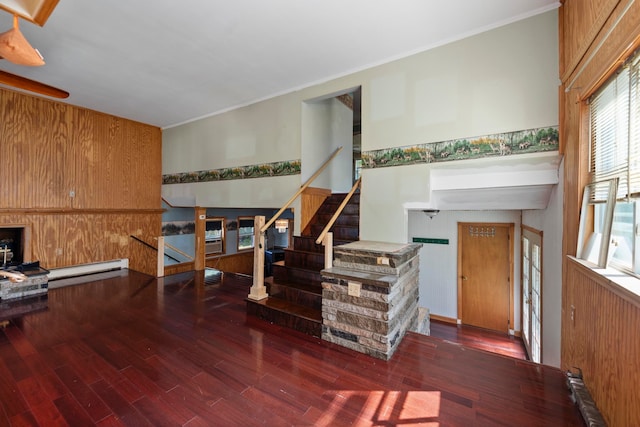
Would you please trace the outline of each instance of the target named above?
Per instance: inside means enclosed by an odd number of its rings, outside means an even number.
[[[557,124],[557,45],[554,11],[371,70],[363,151]],[[361,238],[402,242],[402,206],[433,203],[429,168],[363,171]]]

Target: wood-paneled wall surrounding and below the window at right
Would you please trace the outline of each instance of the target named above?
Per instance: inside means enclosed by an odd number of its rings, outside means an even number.
[[[640,3],[564,0],[559,11],[560,147],[564,154],[561,367],[579,367],[611,426],[640,425],[639,308],[605,286],[575,255],[589,182],[588,97],[638,47]],[[573,317],[572,317],[573,314]]]

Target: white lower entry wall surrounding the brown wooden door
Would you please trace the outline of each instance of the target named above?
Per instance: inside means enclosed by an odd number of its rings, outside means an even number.
[[[520,330],[520,211],[440,211],[430,219],[421,210],[410,210],[407,242],[414,237],[448,239],[448,245],[426,243],[420,249],[420,300],[431,314],[459,319],[458,315],[458,223],[499,222],[514,224],[514,309]]]

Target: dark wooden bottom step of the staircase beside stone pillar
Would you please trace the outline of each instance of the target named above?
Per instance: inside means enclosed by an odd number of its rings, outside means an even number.
[[[322,336],[322,310],[271,297],[260,301],[246,299],[246,302],[248,315],[314,337]]]

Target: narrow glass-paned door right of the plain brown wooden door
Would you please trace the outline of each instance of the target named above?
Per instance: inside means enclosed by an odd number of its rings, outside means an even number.
[[[529,358],[542,361],[542,232],[522,230],[522,339]]]

